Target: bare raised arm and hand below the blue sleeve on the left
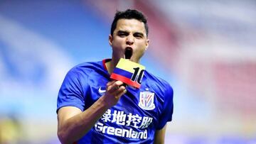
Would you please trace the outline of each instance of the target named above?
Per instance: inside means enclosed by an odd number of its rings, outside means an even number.
[[[83,112],[74,106],[60,108],[58,111],[58,138],[60,142],[74,143],[90,131],[105,111],[117,104],[120,96],[126,92],[125,87],[121,86],[122,84],[120,81],[107,83],[105,95]]]

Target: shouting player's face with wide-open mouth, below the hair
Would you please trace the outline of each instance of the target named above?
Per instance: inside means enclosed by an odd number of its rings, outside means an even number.
[[[136,19],[119,19],[109,42],[113,59],[126,58],[137,63],[149,46],[144,23]]]

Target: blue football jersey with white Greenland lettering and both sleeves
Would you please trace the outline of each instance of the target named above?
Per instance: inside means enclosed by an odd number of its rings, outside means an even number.
[[[105,94],[107,82],[112,81],[105,61],[85,62],[68,72],[57,111],[63,106],[85,111]],[[155,132],[171,121],[173,109],[171,86],[144,71],[141,88],[127,87],[127,93],[77,143],[154,143]]]

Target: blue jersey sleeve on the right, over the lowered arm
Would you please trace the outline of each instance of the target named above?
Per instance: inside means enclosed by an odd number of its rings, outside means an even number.
[[[174,91],[169,86],[167,85],[167,90],[166,90],[166,95],[164,96],[164,106],[163,106],[163,113],[161,113],[160,120],[159,120],[159,125],[156,127],[157,130],[160,130],[161,128],[164,128],[166,123],[168,121],[172,120],[172,114],[174,112]]]

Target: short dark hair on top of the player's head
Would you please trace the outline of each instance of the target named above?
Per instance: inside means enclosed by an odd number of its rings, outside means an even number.
[[[146,23],[146,17],[141,11],[137,11],[136,9],[127,9],[126,11],[117,11],[114,16],[114,20],[111,25],[111,35],[114,33],[114,29],[117,28],[117,21],[119,19],[137,19],[138,21],[142,21],[144,23],[144,28],[146,30],[146,36],[149,34],[149,26]]]

